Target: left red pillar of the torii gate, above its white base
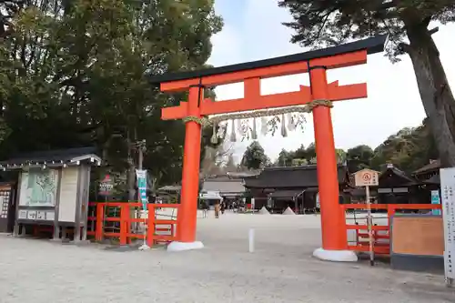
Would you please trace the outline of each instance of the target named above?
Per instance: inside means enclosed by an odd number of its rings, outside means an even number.
[[[199,119],[199,101],[204,90],[199,86],[191,86],[188,95],[188,117]],[[188,120],[185,126],[185,146],[183,153],[183,173],[181,205],[178,208],[177,240],[195,242],[197,221],[197,191],[199,187],[199,160],[201,125],[197,121]]]

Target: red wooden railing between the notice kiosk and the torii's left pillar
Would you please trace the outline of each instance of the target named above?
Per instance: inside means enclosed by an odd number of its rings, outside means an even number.
[[[178,206],[178,204],[148,204],[147,218],[141,218],[131,217],[131,214],[134,213],[132,210],[142,209],[141,203],[92,202],[89,203],[89,207],[95,207],[95,216],[87,218],[87,226],[92,227],[91,230],[87,230],[87,236],[94,236],[96,241],[102,241],[105,237],[116,237],[120,245],[126,245],[132,239],[144,238],[146,238],[148,246],[152,246],[157,242],[174,241],[177,240],[177,220],[157,218],[157,216],[165,216],[157,214],[157,209],[178,209]],[[116,216],[118,210],[119,216]],[[113,213],[114,216],[110,216]],[[94,215],[93,212],[92,215]],[[109,224],[110,222],[113,224]],[[147,227],[147,233],[134,232],[136,229],[133,228],[135,223],[144,224],[144,228]],[[157,232],[163,231],[167,231],[168,235],[157,234]]]

